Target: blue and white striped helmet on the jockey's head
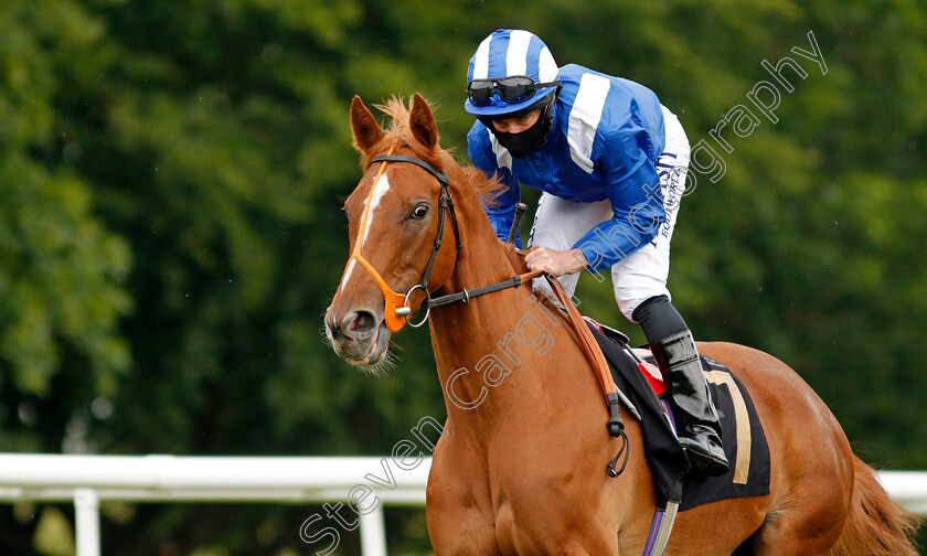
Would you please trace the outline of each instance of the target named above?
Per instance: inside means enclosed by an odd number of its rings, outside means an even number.
[[[537,35],[520,29],[500,29],[487,36],[470,58],[467,84],[473,79],[493,79],[526,75],[536,83],[550,83],[557,78],[557,63]],[[537,89],[531,98],[509,104],[493,94],[488,106],[476,106],[468,98],[464,108],[475,116],[496,117],[518,113],[554,93],[557,87]]]

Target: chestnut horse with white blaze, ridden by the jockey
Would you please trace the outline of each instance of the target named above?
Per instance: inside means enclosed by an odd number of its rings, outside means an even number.
[[[426,292],[472,297],[430,309],[447,407],[427,489],[435,554],[641,554],[657,492],[639,423],[626,419],[627,466],[608,477],[621,440],[604,426],[601,387],[569,324],[528,285],[464,292],[525,271],[481,204],[498,184],[439,147],[420,95],[409,108],[397,98],[379,108],[392,116],[387,130],[360,98],[351,105],[364,177],[344,204],[352,257],[326,330],[338,355],[379,371],[391,334]],[[753,397],[768,437],[770,492],[681,512],[665,554],[916,554],[916,518],[888,499],[791,368],[740,345],[700,350]]]

